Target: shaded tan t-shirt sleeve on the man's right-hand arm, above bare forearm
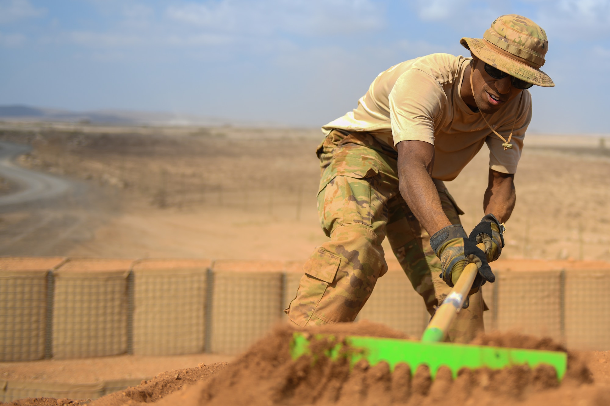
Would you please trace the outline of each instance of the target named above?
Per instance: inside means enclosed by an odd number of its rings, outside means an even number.
[[[512,148],[504,150],[502,144],[504,141],[497,135],[490,134],[487,136],[485,142],[489,148],[489,168],[494,171],[501,173],[516,173],[517,164],[521,158],[521,152],[523,150],[523,139],[525,138],[525,131],[528,129],[529,121],[532,118],[532,106],[531,96],[529,92],[523,94],[522,106],[519,112],[517,112],[517,121],[515,121],[515,129],[512,132],[512,138],[510,144]],[[509,134],[511,134],[512,120],[502,126],[498,133],[508,140]]]

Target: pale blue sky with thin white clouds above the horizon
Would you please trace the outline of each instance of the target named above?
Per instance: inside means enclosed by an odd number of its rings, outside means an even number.
[[[0,104],[321,126],[507,13],[549,38],[530,130],[610,133],[610,0],[0,0]]]

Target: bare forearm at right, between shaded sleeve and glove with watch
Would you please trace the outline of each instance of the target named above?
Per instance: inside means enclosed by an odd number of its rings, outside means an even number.
[[[496,216],[500,223],[507,221],[515,208],[517,196],[514,177],[514,174],[489,169],[489,184],[483,198],[483,210],[486,215],[492,213]]]

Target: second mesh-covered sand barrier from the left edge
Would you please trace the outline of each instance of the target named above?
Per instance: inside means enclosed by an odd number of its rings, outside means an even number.
[[[127,278],[131,263],[70,259],[54,272],[53,357],[127,352]]]

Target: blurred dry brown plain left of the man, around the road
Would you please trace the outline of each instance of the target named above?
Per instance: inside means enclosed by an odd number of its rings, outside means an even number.
[[[282,258],[304,258],[325,238],[315,214],[312,150],[318,140],[310,133],[251,140],[202,136],[201,129],[190,136],[5,130],[4,139],[34,146],[21,158],[23,166],[86,183],[100,196],[91,217],[112,218],[91,227],[93,238],[75,238],[70,249],[44,254],[276,258],[281,251]],[[115,216],[111,206],[119,204],[122,214]],[[31,212],[17,207],[2,213],[2,234],[26,229],[21,222]],[[275,236],[266,247],[265,235]],[[31,237],[21,238],[30,242],[29,252],[11,240],[4,254],[42,254]]]

